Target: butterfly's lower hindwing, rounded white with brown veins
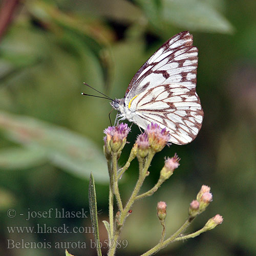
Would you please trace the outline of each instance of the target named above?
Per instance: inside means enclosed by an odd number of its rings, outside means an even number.
[[[170,133],[170,142],[187,144],[197,137],[203,111],[195,90],[180,84],[164,84],[140,93],[132,102],[133,121],[143,129],[158,123]]]

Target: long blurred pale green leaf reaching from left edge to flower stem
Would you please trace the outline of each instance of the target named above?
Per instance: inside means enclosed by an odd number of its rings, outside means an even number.
[[[103,154],[86,137],[35,118],[4,112],[0,112],[0,129],[28,150],[45,152],[49,161],[72,174],[88,178],[93,170],[98,182],[108,182]]]

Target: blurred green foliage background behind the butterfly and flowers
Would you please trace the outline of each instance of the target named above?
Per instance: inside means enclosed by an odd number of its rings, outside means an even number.
[[[89,211],[93,172],[102,220],[108,219],[108,171],[103,129],[110,125],[108,100],[83,82],[121,98],[145,60],[178,32],[189,30],[199,49],[197,92],[205,112],[192,143],[156,155],[143,190],[158,179],[165,156],[181,165],[154,196],[137,202],[118,255],[139,255],[160,239],[157,202],[167,203],[167,234],[187,216],[202,184],[214,201],[187,232],[220,214],[222,225],[200,237],[168,246],[158,255],[255,255],[256,239],[256,2],[239,0],[7,0],[0,12],[0,254],[64,255],[86,242],[79,255],[96,255],[91,233],[10,232],[10,226],[90,227],[88,218],[31,218],[28,211]],[[12,19],[10,19],[12,17]],[[114,120],[115,113],[111,114]],[[132,133],[120,158],[125,163],[139,133]],[[120,185],[129,198],[137,178],[134,161]],[[8,218],[7,210],[16,210]],[[24,215],[20,215],[24,214]],[[50,243],[51,248],[8,249],[8,240]],[[93,240],[92,240],[93,241]],[[17,247],[17,246],[16,246]],[[73,246],[74,247],[74,246]],[[106,254],[106,249],[103,250]]]

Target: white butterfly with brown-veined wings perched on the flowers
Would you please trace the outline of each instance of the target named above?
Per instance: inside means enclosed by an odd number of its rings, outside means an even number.
[[[166,41],[139,69],[124,98],[111,105],[142,129],[151,122],[166,128],[170,142],[187,144],[199,133],[203,110],[196,93],[198,49],[181,32]]]

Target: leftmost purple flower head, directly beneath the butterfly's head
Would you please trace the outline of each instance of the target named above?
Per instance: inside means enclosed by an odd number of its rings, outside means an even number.
[[[126,123],[120,123],[117,126],[109,126],[104,130],[104,152],[109,154],[111,152],[121,152],[125,143],[126,137],[131,129]]]

